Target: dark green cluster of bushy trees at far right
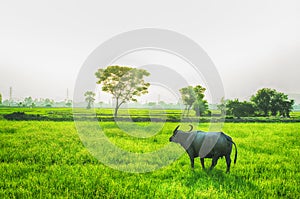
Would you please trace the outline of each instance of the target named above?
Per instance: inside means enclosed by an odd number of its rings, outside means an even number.
[[[251,116],[281,116],[290,117],[294,100],[288,99],[288,95],[275,89],[263,88],[251,96],[250,101],[224,100],[218,105],[218,109],[226,115],[235,117]]]

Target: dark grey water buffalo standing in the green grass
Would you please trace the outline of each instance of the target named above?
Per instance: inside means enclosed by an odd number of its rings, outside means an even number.
[[[191,126],[192,127],[192,126]],[[191,167],[194,168],[194,158],[200,157],[204,169],[204,158],[212,158],[210,169],[213,169],[220,157],[226,158],[227,170],[230,171],[230,155],[232,144],[235,146],[234,164],[237,159],[237,148],[231,137],[223,132],[183,132],[177,126],[170,137],[170,142],[179,143],[188,153],[191,160]],[[191,128],[192,129],[192,128]]]

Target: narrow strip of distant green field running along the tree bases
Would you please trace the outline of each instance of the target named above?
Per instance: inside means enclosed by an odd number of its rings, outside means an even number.
[[[80,114],[81,120],[97,117],[99,121],[114,121],[114,109],[96,108],[85,109],[76,108],[75,112]],[[95,114],[91,114],[94,113]],[[167,121],[167,122],[210,122],[220,120],[220,111],[211,110],[211,116],[197,117],[194,110],[190,111],[190,116],[183,116],[184,110],[176,109],[119,109],[118,120],[135,122]],[[29,107],[0,107],[0,119],[7,120],[38,120],[38,121],[73,121],[72,108],[29,108]],[[231,115],[226,116],[225,122],[300,122],[300,112],[291,112],[290,118],[279,116],[269,117],[241,117],[235,118]]]

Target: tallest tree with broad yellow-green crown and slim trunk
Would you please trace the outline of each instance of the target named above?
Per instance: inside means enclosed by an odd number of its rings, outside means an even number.
[[[98,78],[97,83],[102,85],[102,91],[112,94],[116,101],[115,117],[122,104],[129,101],[136,102],[136,97],[148,93],[150,86],[144,80],[150,73],[144,69],[108,66],[105,69],[98,69],[95,75]]]

